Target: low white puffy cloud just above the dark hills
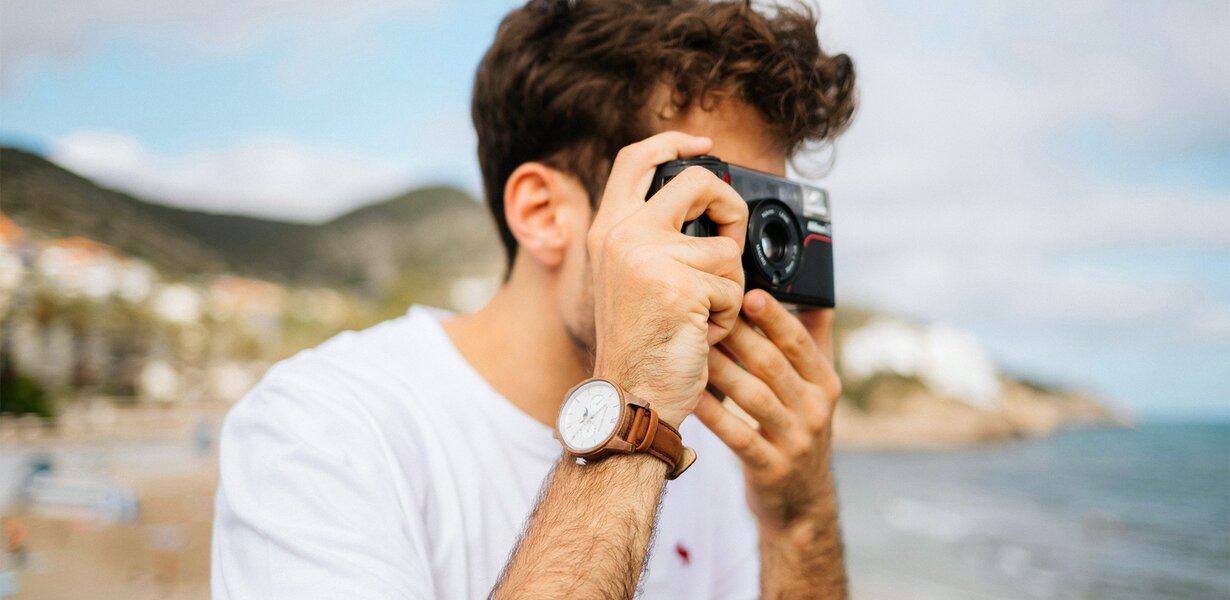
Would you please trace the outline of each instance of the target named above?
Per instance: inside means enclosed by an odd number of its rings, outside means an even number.
[[[164,155],[114,132],[55,141],[50,160],[98,183],[167,204],[303,221],[322,220],[416,183],[408,164],[274,135]]]

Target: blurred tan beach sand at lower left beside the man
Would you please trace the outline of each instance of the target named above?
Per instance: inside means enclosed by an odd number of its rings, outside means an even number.
[[[55,432],[20,435],[10,423],[9,439],[0,436],[0,452],[167,440],[184,448],[182,456],[166,464],[103,464],[100,475],[135,492],[139,510],[133,523],[103,524],[84,515],[57,516],[28,508],[5,514],[18,519],[27,532],[28,564],[17,569],[21,591],[14,598],[208,599],[218,461],[214,454],[196,455],[188,449],[198,423],[207,423],[216,435],[224,411],[223,406],[118,411],[107,414],[105,427],[98,427],[102,419],[97,414],[89,419],[89,427],[82,416],[71,416]],[[0,550],[4,547],[0,539]],[[11,568],[12,557],[0,559],[0,572]]]

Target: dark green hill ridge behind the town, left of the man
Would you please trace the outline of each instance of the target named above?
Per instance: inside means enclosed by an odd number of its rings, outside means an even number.
[[[180,275],[239,273],[383,290],[405,272],[494,273],[486,210],[454,188],[408,191],[322,224],[210,214],[106,189],[41,156],[0,148],[0,211],[38,237],[82,236]]]

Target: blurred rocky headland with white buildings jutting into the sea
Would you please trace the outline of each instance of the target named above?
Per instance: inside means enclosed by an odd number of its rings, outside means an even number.
[[[1000,373],[974,336],[948,326],[850,309],[839,311],[835,343],[838,446],[945,448],[1127,425],[1091,395]]]

